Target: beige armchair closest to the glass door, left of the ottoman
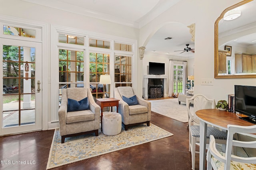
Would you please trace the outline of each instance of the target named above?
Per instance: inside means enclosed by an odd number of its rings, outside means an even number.
[[[90,109],[68,112],[68,99],[80,101],[88,99]],[[67,88],[62,90],[61,105],[58,111],[61,143],[66,137],[95,133],[98,136],[100,128],[100,106],[92,97],[90,88]]]

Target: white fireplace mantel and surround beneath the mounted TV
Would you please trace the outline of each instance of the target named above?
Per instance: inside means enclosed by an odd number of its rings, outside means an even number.
[[[166,98],[167,95],[167,78],[168,75],[156,75],[156,74],[145,74],[143,76],[143,88],[144,88],[144,98],[148,99],[148,79],[149,78],[163,78],[164,79],[164,98]]]

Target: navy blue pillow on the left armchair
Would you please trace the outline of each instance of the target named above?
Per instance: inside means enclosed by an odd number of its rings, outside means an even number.
[[[84,98],[80,101],[74,99],[68,99],[68,111],[80,111],[90,109],[88,98]]]

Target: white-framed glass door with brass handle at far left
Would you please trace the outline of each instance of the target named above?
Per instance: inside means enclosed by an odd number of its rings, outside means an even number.
[[[0,38],[0,135],[42,129],[42,43]]]

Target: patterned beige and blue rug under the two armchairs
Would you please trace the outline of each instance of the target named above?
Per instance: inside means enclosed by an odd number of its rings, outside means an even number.
[[[150,123],[129,127],[128,131],[122,127],[121,133],[106,136],[99,130],[99,136],[94,133],[66,138],[61,143],[59,129],[56,129],[52,139],[52,146],[48,158],[47,168],[51,169],[72,162],[92,158],[116,150],[133,147],[150,141],[155,141],[173,134]]]

